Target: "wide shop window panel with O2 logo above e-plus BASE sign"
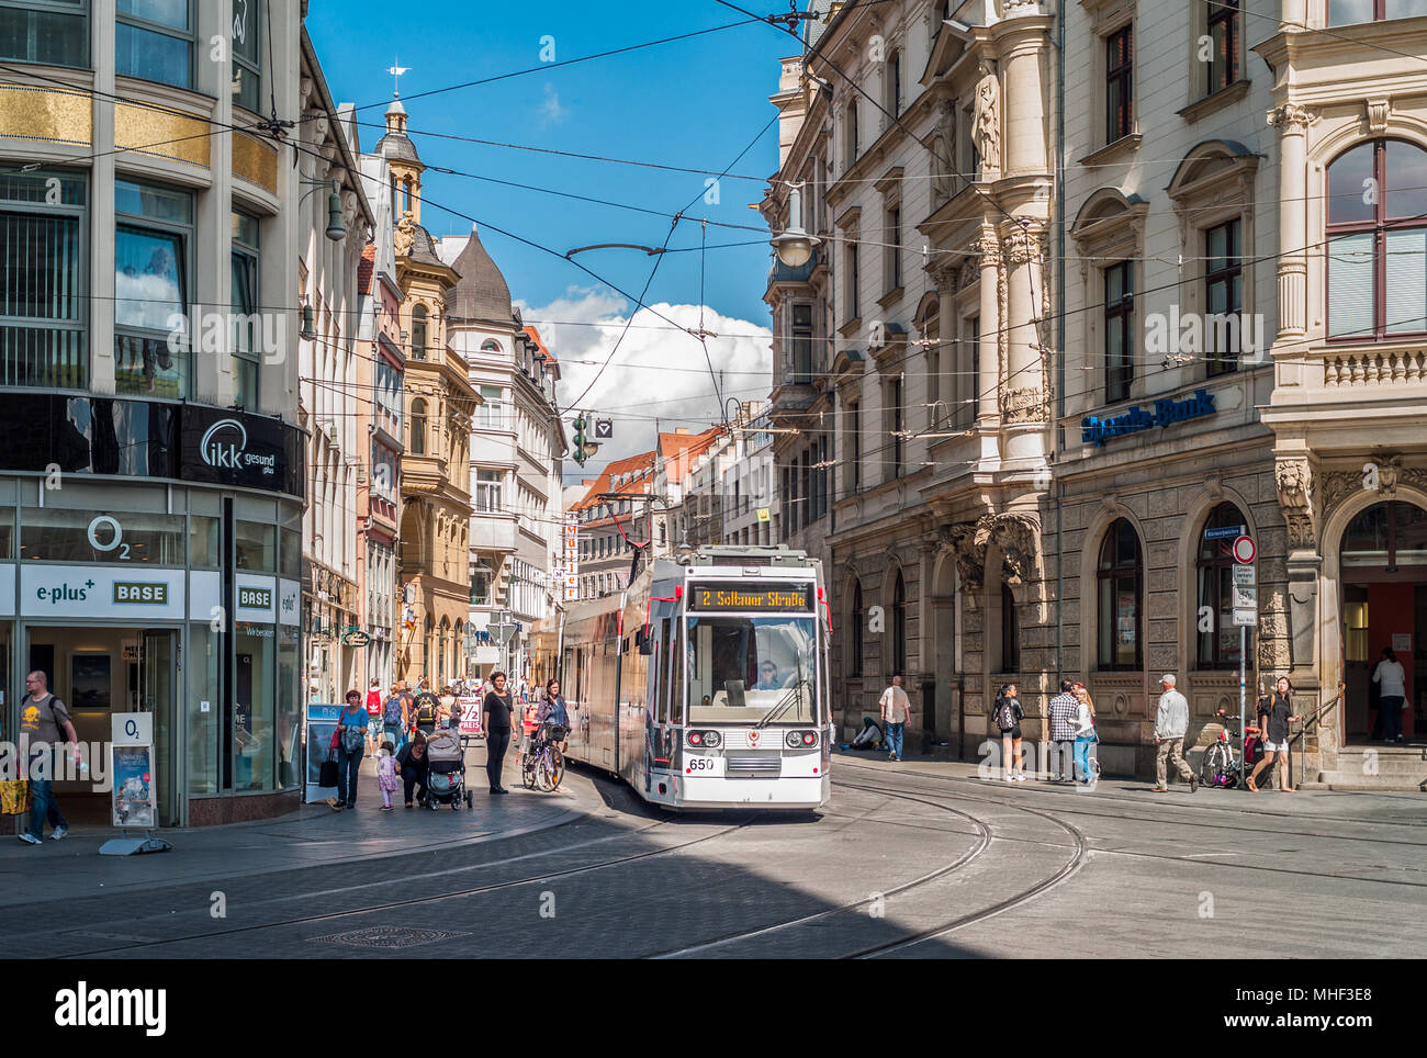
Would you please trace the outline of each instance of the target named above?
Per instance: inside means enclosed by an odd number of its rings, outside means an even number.
[[[183,566],[181,516],[26,508],[20,558],[26,562]]]

